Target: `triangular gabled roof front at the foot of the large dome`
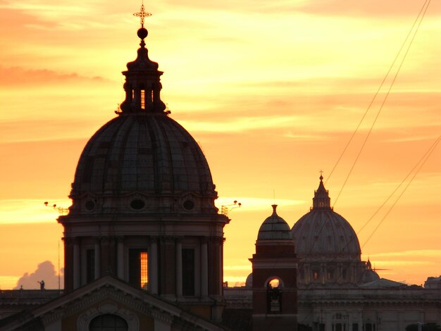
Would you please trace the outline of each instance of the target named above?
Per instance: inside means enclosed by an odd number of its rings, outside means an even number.
[[[111,275],[94,280],[32,310],[0,320],[0,330],[17,330],[23,325],[40,327],[45,319],[61,320],[78,314],[82,315],[76,318],[77,327],[90,317],[89,315],[97,316],[99,313],[116,313],[126,315],[128,320],[137,320],[135,313],[139,312],[145,316],[160,316],[162,320],[170,320],[170,323],[189,327],[191,330],[229,330],[228,327],[201,318],[185,308],[162,299],[161,296],[133,287]],[[38,327],[25,330],[44,330]],[[78,330],[83,329],[79,326]],[[139,330],[139,327],[133,330]]]

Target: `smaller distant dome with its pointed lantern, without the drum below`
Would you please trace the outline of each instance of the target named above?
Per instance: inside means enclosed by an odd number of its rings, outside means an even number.
[[[320,185],[314,192],[313,207],[292,227],[292,235],[299,256],[317,256],[318,259],[335,258],[359,261],[359,239],[352,226],[330,207],[328,191]]]

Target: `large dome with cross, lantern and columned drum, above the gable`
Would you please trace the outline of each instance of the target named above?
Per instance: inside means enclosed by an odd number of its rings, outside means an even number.
[[[161,101],[141,7],[137,58],[127,64],[120,111],[87,142],[64,227],[65,290],[104,275],[220,320],[223,227],[199,144]]]

